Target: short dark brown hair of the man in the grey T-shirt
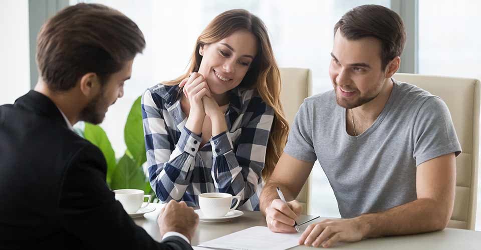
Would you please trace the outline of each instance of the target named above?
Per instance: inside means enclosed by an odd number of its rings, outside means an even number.
[[[401,16],[381,5],[357,6],[334,26],[349,40],[372,36],[381,40],[381,65],[384,70],[394,57],[400,56],[406,41],[406,31]]]

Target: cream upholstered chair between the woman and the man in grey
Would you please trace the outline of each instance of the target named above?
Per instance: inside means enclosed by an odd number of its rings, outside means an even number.
[[[312,76],[308,68],[280,68],[281,70],[281,103],[284,108],[289,124],[294,121],[294,116],[299,110],[304,98],[311,95]],[[303,213],[306,213],[308,203],[309,179],[304,184],[297,200],[303,205]]]

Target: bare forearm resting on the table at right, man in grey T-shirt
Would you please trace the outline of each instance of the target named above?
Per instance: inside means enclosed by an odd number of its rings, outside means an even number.
[[[360,215],[365,237],[403,235],[442,230],[449,221],[452,207],[421,198],[384,212]]]

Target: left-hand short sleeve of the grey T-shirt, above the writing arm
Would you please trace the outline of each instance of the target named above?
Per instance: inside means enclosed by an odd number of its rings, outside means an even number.
[[[308,103],[306,100],[301,104],[289,131],[284,152],[296,159],[314,162],[317,156],[312,141],[313,117],[309,110],[310,107],[312,107],[312,103]]]

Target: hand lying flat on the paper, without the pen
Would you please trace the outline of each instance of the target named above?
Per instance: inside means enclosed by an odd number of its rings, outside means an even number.
[[[299,244],[330,247],[338,241],[359,241],[366,235],[366,224],[359,217],[350,219],[325,219],[309,225],[302,233]]]

